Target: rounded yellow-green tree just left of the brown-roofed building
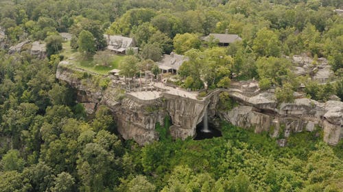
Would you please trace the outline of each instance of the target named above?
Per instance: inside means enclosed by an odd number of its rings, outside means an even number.
[[[174,51],[183,54],[190,49],[199,49],[200,40],[194,33],[176,34],[174,40]]]

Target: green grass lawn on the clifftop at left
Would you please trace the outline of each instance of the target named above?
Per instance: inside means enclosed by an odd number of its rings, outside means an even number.
[[[70,42],[64,42],[62,55],[64,55],[64,60],[69,61],[73,66],[77,68],[82,68],[91,72],[97,72],[99,74],[108,74],[108,71],[119,67],[119,63],[125,55],[115,55],[113,53],[105,51],[106,54],[110,55],[110,65],[102,66],[96,64],[97,61],[93,59],[92,56],[84,57],[80,52],[71,49]]]

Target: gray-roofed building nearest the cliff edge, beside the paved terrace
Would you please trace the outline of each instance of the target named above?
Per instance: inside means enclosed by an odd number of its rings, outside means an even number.
[[[161,61],[158,61],[157,64],[163,73],[171,72],[175,74],[185,61],[188,61],[188,57],[171,52],[170,55],[164,54]]]

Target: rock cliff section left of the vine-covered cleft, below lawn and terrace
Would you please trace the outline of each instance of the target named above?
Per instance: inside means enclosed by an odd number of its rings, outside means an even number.
[[[99,78],[106,77],[71,68],[63,61],[58,66],[56,77],[77,90],[78,102],[84,105],[88,114],[94,113],[99,105],[108,106],[113,111],[117,131],[123,139],[134,139],[141,145],[158,139],[155,125],[157,122],[164,124],[165,101],[160,99],[145,102],[124,96],[120,85],[113,81],[104,90],[96,82]]]

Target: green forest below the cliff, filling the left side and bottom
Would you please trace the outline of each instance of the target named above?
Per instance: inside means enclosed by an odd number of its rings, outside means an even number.
[[[279,148],[267,133],[224,122],[223,137],[172,141],[166,120],[166,127],[157,126],[160,141],[140,147],[118,139],[106,107],[87,119],[48,63],[25,53],[1,57],[0,191],[342,188],[342,142],[322,143],[320,130],[294,134]]]

